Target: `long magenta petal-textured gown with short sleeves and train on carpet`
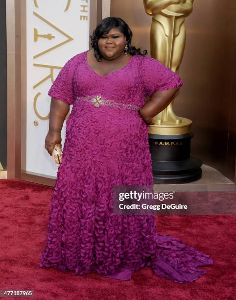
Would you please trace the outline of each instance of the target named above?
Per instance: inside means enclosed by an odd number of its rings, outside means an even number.
[[[72,57],[48,92],[73,108],[39,267],[130,279],[132,271],[151,266],[175,282],[193,281],[206,273],[199,267],[211,265],[212,258],[158,234],[154,215],[113,214],[112,197],[114,185],[153,185],[148,126],[136,109],[155,91],[183,82],[158,60],[141,55],[101,76],[86,55]],[[126,106],[96,107],[91,100],[98,95]]]

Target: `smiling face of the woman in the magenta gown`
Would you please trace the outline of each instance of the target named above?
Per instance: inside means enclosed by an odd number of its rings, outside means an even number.
[[[107,34],[103,34],[97,41],[101,54],[109,58],[117,58],[124,53],[125,36],[117,27],[112,28]]]

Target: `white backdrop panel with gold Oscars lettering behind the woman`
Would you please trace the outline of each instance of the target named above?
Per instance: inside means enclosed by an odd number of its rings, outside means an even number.
[[[26,26],[26,171],[56,177],[58,165],[44,148],[51,100],[47,92],[65,63],[89,49],[89,0],[27,0]],[[66,120],[62,147],[65,127]]]

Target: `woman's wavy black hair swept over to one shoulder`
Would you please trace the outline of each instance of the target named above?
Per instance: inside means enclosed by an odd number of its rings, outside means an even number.
[[[143,50],[141,53],[141,48],[137,49],[134,46],[131,46],[133,33],[130,27],[121,18],[107,17],[102,19],[102,21],[94,29],[93,34],[90,35],[91,46],[94,48],[94,55],[98,62],[101,61],[102,54],[99,51],[97,41],[103,34],[107,34],[114,27],[117,27],[126,37],[126,43],[128,47],[127,52],[129,52],[131,55],[144,56],[147,54],[147,50]]]

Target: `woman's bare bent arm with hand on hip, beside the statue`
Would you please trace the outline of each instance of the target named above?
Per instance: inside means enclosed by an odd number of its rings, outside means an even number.
[[[156,91],[151,99],[139,110],[142,120],[147,125],[154,125],[152,118],[169,105],[179,89],[180,87],[178,86],[171,90]]]

